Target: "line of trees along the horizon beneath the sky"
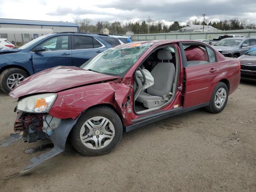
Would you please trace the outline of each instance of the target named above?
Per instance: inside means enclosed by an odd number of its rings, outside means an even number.
[[[79,26],[79,32],[93,32],[100,33],[102,28],[108,28],[112,34],[125,34],[127,31],[132,31],[134,34],[147,34],[147,33],[167,33],[177,31],[185,25],[181,25],[182,21],[174,21],[170,26],[166,25],[162,20],[154,21],[150,18],[147,20],[134,21],[132,18],[127,18],[125,22],[108,22],[98,21],[96,24],[92,23],[91,19],[74,20],[74,23]],[[254,22],[246,19],[230,19],[213,21],[205,19],[201,22],[198,19],[186,22],[186,24],[194,25],[209,25],[219,30],[238,30],[238,29],[256,29]],[[148,27],[149,26],[149,27]]]

